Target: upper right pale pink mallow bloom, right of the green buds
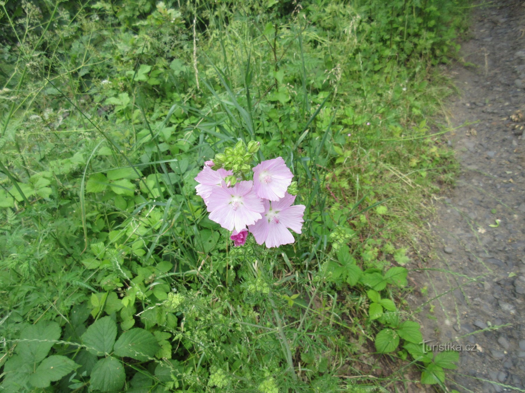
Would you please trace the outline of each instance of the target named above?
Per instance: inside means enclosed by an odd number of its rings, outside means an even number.
[[[259,198],[278,201],[285,196],[293,173],[281,157],[262,161],[254,169],[254,188]]]

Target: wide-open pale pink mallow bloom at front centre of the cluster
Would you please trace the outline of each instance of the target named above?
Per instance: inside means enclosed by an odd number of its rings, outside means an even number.
[[[255,224],[264,212],[262,200],[253,192],[252,181],[239,181],[234,187],[214,187],[208,198],[209,219],[220,226],[240,232],[246,225]]]

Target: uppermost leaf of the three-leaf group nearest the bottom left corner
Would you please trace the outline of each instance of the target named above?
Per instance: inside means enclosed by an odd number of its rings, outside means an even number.
[[[56,322],[40,321],[34,325],[28,325],[20,333],[20,340],[31,341],[20,341],[16,350],[27,362],[40,362],[60,338],[60,334],[61,329]]]

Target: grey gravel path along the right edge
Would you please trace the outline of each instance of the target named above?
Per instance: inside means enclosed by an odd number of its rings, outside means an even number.
[[[525,391],[525,2],[478,7],[471,35],[461,56],[474,65],[449,70],[461,94],[448,109],[454,127],[474,124],[450,136],[461,175],[438,202],[441,244],[424,265],[454,274],[414,272],[428,291],[413,300],[448,292],[418,314],[424,339],[476,345],[447,372],[450,389]]]

